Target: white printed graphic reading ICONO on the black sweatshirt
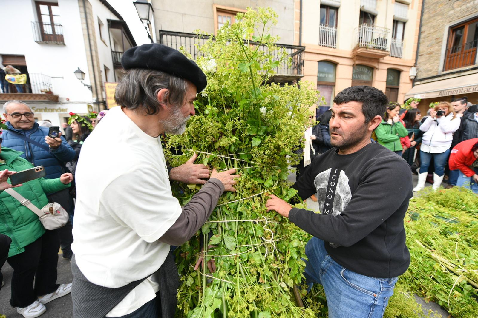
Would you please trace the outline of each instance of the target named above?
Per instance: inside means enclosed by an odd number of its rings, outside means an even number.
[[[319,173],[314,180],[320,212],[340,215],[352,198],[348,177],[344,170],[330,168]]]

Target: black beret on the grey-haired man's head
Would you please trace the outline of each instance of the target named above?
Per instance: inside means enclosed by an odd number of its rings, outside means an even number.
[[[206,75],[199,66],[183,53],[159,43],[134,46],[121,58],[125,70],[147,68],[187,79],[196,85],[197,93],[206,88]]]

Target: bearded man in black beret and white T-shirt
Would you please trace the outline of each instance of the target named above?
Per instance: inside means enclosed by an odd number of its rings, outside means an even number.
[[[174,317],[179,286],[170,245],[189,240],[224,191],[234,169],[195,165],[168,170],[163,133],[182,134],[206,76],[182,53],[152,43],[130,48],[114,107],[82,146],[76,167],[72,259],[75,318]],[[93,182],[98,159],[106,162]],[[204,184],[185,206],[169,179]],[[206,182],[203,179],[209,180]]]

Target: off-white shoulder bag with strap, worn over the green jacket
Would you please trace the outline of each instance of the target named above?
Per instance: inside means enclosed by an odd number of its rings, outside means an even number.
[[[5,190],[13,198],[20,201],[22,205],[29,208],[33,213],[38,215],[38,219],[47,230],[54,230],[62,227],[68,222],[68,212],[56,202],[48,203],[42,209],[38,209],[30,200],[22,197],[20,193],[9,188]]]

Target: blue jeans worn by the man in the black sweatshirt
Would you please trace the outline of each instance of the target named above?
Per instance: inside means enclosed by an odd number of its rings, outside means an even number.
[[[314,283],[324,287],[329,318],[383,317],[398,277],[374,278],[337,264],[327,254],[324,241],[313,237],[305,245],[304,276],[308,290]]]

